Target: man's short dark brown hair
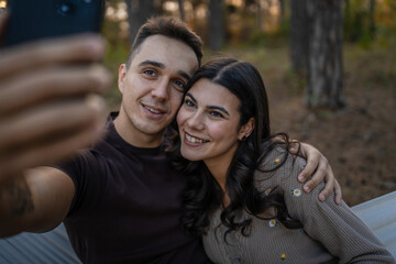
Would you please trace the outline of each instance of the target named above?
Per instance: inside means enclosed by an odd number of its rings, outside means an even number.
[[[135,40],[132,44],[131,52],[128,56],[127,68],[131,65],[134,54],[139,50],[139,46],[152,35],[164,35],[177,41],[182,41],[186,45],[193,48],[194,53],[197,55],[198,66],[201,64],[202,59],[202,41],[201,38],[194,33],[187,25],[173,18],[151,18],[145,22],[135,36]]]

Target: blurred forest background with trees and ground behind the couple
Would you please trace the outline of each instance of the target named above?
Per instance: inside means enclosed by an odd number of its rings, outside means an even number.
[[[153,15],[194,29],[205,62],[253,63],[270,96],[273,132],[318,147],[350,206],[396,190],[395,0],[107,0],[111,110],[120,102],[118,67]]]

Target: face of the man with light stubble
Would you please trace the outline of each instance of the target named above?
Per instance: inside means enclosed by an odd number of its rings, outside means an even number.
[[[184,86],[197,68],[197,56],[185,43],[163,35],[147,37],[129,69],[120,66],[119,133],[135,146],[160,144],[180,106]]]

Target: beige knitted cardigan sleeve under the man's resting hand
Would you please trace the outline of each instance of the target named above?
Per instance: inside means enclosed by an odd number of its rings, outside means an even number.
[[[318,199],[324,182],[309,194],[302,191],[297,176],[305,164],[305,160],[288,155],[279,169],[283,175],[279,187],[290,217],[302,222],[306,234],[339,257],[340,263],[395,263],[392,254],[345,202],[338,206],[334,194],[323,202]]]

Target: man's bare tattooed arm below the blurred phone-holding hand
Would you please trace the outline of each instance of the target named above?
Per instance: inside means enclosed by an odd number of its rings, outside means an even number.
[[[28,169],[0,185],[0,238],[46,232],[66,217],[75,194],[69,176],[53,167]]]

